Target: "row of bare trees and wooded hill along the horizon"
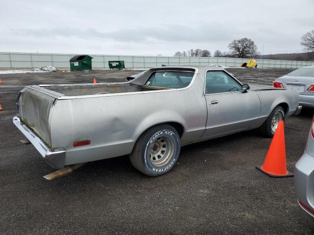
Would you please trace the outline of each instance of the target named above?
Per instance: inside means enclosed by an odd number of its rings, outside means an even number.
[[[233,40],[229,45],[229,51],[221,52],[215,50],[213,57],[232,57],[232,58],[264,58],[277,60],[314,60],[314,30],[305,33],[301,37],[301,45],[305,53],[286,53],[263,55],[258,51],[254,41],[249,38]],[[189,49],[188,51],[177,51],[174,56],[178,57],[211,57],[211,52],[207,49]]]

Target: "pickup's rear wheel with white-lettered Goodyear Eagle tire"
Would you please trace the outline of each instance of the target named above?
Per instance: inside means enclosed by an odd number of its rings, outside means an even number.
[[[132,165],[147,176],[159,176],[170,171],[180,154],[180,136],[168,124],[154,126],[136,141],[130,154]]]

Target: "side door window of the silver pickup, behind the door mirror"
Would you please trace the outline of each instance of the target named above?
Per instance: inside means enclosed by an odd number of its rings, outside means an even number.
[[[207,71],[205,94],[241,91],[242,86],[224,71]]]

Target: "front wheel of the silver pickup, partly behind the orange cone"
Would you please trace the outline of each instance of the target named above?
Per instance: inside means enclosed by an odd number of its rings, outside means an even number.
[[[261,126],[262,135],[272,138],[280,120],[285,120],[285,111],[281,106],[276,106]]]

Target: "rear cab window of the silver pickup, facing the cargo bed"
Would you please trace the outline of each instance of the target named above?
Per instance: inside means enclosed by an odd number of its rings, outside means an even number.
[[[158,71],[154,72],[144,85],[149,87],[183,88],[191,83],[193,75],[194,72]]]

